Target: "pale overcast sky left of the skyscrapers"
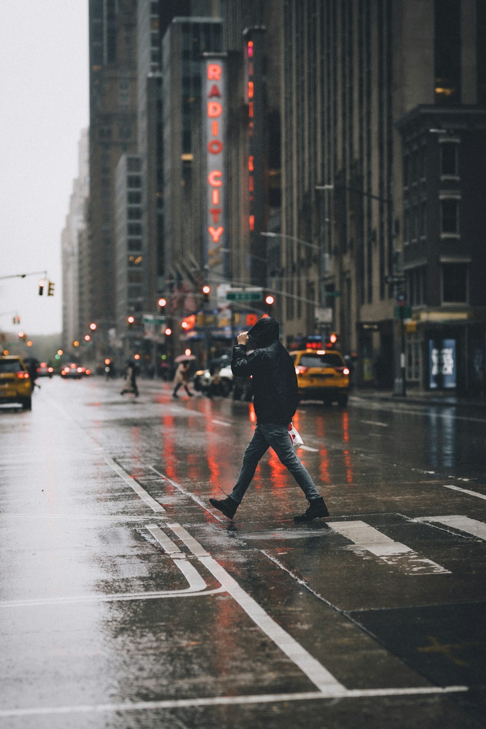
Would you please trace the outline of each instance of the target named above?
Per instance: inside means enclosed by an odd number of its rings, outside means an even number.
[[[89,124],[88,0],[0,0],[0,330],[62,330],[60,234]],[[12,324],[12,312],[20,325]]]

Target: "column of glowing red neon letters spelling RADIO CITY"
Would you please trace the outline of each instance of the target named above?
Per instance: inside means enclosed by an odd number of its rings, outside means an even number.
[[[206,115],[208,119],[208,185],[210,195],[208,196],[208,219],[211,225],[208,226],[208,233],[213,243],[218,243],[224,233],[222,194],[223,194],[223,172],[222,152],[224,150],[223,134],[224,126],[222,116],[223,106],[223,66],[220,63],[208,63],[206,66],[207,75],[207,106]]]

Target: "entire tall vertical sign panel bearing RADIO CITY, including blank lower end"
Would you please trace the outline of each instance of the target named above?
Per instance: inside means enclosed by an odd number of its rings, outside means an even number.
[[[220,56],[206,57],[203,68],[205,256],[209,272],[227,278],[226,61]]]

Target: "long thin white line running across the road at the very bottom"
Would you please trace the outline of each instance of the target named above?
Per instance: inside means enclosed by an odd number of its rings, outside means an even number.
[[[187,709],[191,706],[238,706],[238,704],[278,703],[286,701],[317,701],[329,698],[364,698],[367,696],[413,696],[463,693],[467,686],[431,686],[416,688],[356,689],[344,693],[264,693],[243,696],[208,696],[207,698],[173,698],[161,701],[123,701],[122,703],[78,704],[77,706],[39,706],[31,709],[1,709],[0,717],[35,717],[50,714],[101,714],[105,712],[146,712],[147,709]]]

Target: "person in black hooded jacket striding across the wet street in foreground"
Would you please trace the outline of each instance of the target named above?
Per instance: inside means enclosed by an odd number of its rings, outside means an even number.
[[[253,340],[255,348],[247,353],[249,338]],[[232,519],[254,477],[259,460],[268,448],[273,448],[309,502],[307,511],[294,516],[294,521],[311,521],[329,516],[324,499],[315,488],[289,437],[289,423],[297,410],[299,394],[294,362],[279,340],[278,321],[267,316],[257,321],[249,332],[238,335],[238,344],[233,347],[231,369],[235,377],[251,377],[256,429],[243,455],[240,475],[231,494],[226,499],[209,499],[209,502]]]

